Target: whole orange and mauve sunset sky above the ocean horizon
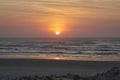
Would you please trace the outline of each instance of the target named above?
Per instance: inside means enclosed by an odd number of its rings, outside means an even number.
[[[0,0],[0,37],[120,37],[120,0]]]

